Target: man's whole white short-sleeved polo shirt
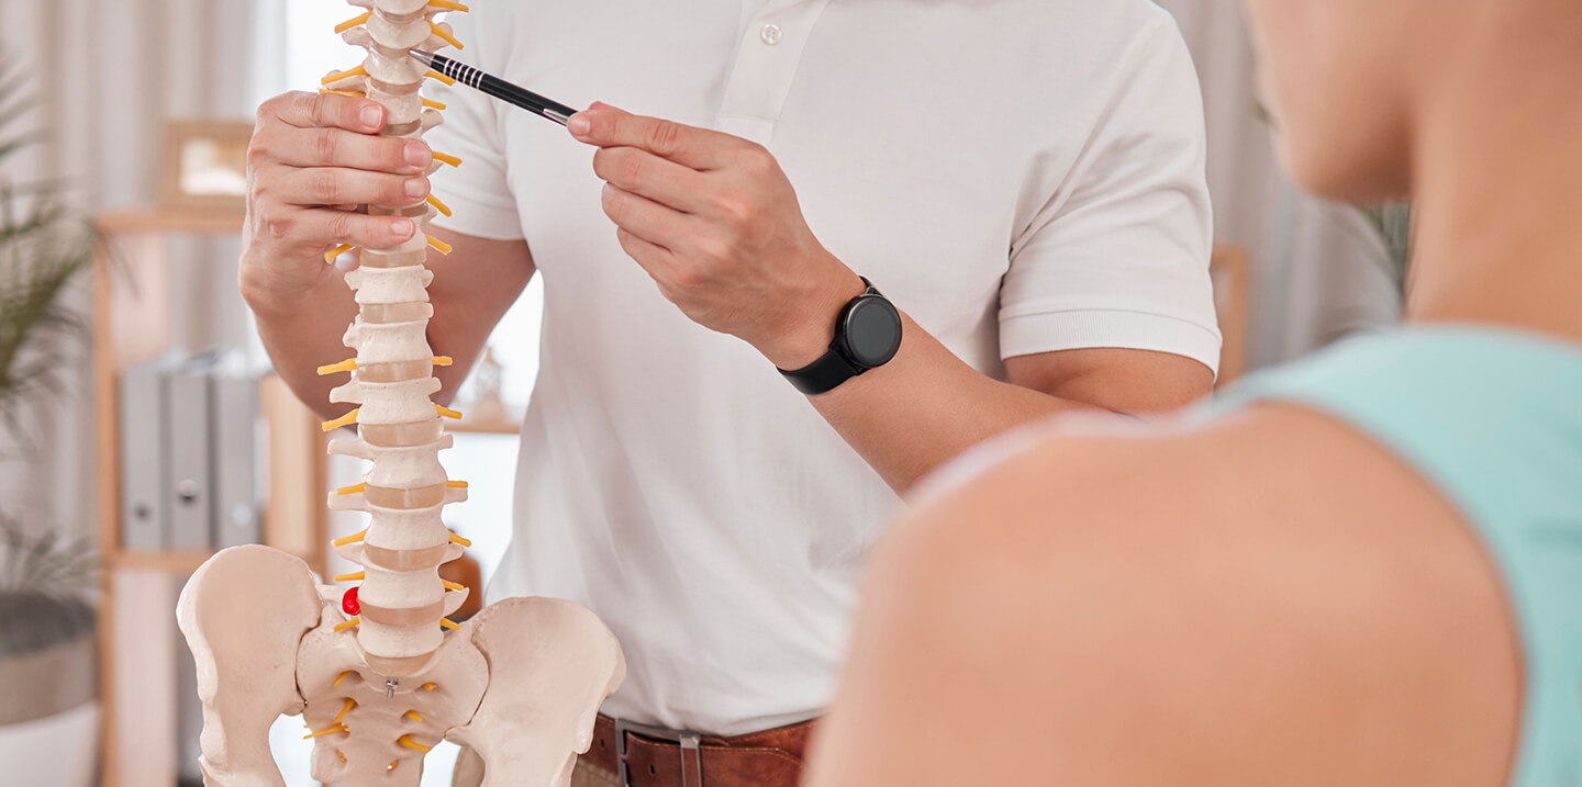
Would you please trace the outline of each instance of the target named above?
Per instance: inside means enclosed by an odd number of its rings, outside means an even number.
[[[1073,348],[1217,365],[1201,100],[1152,3],[471,6],[459,57],[486,71],[767,145],[818,239],[984,375]],[[897,498],[767,360],[622,253],[592,149],[470,90],[437,98],[430,141],[465,160],[435,177],[446,226],[525,237],[546,288],[490,594],[609,623],[630,665],[609,714],[721,735],[818,714]]]

